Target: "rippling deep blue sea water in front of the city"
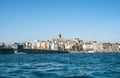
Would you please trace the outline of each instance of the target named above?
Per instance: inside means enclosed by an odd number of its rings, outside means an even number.
[[[120,78],[120,53],[1,54],[0,78]]]

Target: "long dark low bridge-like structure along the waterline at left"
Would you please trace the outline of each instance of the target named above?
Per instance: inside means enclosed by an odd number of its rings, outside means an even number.
[[[68,51],[57,51],[57,50],[41,50],[41,49],[8,49],[8,48],[0,48],[0,54],[16,54],[17,53],[25,53],[25,54],[57,54],[57,53],[69,53]]]

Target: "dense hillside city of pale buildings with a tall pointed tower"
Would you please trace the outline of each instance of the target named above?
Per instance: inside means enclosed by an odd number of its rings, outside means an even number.
[[[79,38],[65,39],[58,33],[57,38],[52,40],[33,40],[31,42],[12,43],[6,45],[0,43],[0,48],[23,48],[23,49],[41,49],[41,50],[57,50],[69,52],[120,52],[120,43],[103,43],[97,41],[80,40]]]

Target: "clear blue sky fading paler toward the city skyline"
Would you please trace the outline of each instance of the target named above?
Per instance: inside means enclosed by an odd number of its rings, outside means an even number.
[[[0,42],[62,37],[120,42],[120,0],[0,0]]]

